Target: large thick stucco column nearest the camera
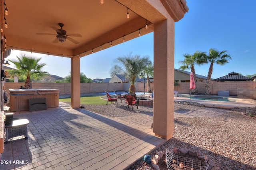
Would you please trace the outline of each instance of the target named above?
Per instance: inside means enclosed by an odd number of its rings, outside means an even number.
[[[154,117],[156,136],[172,138],[174,131],[174,20],[154,24]]]

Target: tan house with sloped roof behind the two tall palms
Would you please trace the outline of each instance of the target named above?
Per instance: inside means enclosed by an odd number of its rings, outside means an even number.
[[[196,82],[206,82],[207,77],[203,75],[196,74],[195,76]],[[214,79],[211,79],[214,80]],[[175,82],[190,82],[190,71],[184,71],[180,69],[174,69],[174,81]]]

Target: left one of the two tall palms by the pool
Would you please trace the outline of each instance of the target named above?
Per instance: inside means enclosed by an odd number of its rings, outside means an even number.
[[[196,75],[195,71],[195,65],[201,65],[204,63],[204,60],[202,60],[202,57],[205,55],[204,52],[196,51],[193,55],[191,54],[184,54],[183,56],[185,57],[183,61],[179,61],[182,65],[180,66],[180,69],[186,70],[186,69],[191,69],[191,72],[194,74],[194,79]],[[195,82],[196,84],[196,82]],[[197,86],[196,88],[191,90],[191,93],[194,95],[198,95],[198,89]]]

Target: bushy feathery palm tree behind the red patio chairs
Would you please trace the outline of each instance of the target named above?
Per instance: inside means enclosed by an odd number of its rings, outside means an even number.
[[[120,64],[114,65],[110,70],[110,75],[115,75],[118,73],[124,73],[126,79],[128,79],[131,83],[129,92],[135,94],[136,87],[136,77],[140,73],[141,70],[151,64],[152,62],[149,60],[149,57],[140,57],[140,55],[132,56],[132,53],[127,56],[118,57],[117,61]]]

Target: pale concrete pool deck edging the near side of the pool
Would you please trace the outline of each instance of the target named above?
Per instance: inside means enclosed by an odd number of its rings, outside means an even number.
[[[237,101],[210,101],[210,100],[198,100],[190,99],[187,97],[174,98],[174,101],[192,101],[200,103],[206,107],[218,108],[218,109],[234,109],[242,107],[256,107],[256,104],[250,103],[249,101],[238,99]]]

